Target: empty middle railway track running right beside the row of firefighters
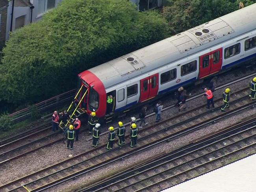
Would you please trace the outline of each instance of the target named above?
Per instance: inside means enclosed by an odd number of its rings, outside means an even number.
[[[205,109],[205,105],[200,105],[186,113],[179,114],[160,122],[164,125],[154,124],[139,130],[137,148],[127,148],[128,144],[122,148],[114,148],[111,154],[105,150],[105,145],[85,151],[70,159],[58,162],[43,168],[30,175],[16,179],[0,186],[1,191],[25,191],[21,185],[25,185],[30,191],[43,191],[52,186],[63,183],[69,179],[85,174],[91,170],[100,168],[109,162],[117,161],[128,157],[137,151],[150,148],[160,142],[165,142],[180,135],[200,129],[200,127],[220,120],[221,118],[252,107],[255,102],[248,98],[248,89],[242,89],[231,97],[230,111],[221,113],[219,108],[223,104],[222,98],[216,100],[216,111],[211,112]],[[234,98],[235,97],[235,98]],[[185,115],[184,115],[185,114]],[[126,136],[127,137],[127,136]]]

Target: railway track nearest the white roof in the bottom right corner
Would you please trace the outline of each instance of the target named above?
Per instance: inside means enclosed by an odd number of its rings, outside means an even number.
[[[225,158],[255,146],[256,117],[254,116],[195,140],[179,150],[137,162],[132,167],[104,175],[70,192],[159,191],[166,186],[171,187],[219,168],[219,164],[215,162],[225,162]]]

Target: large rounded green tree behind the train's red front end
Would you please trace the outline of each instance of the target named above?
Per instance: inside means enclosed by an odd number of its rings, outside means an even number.
[[[74,88],[79,72],[164,39],[167,22],[125,0],[64,0],[11,33],[0,65],[0,100],[37,102]]]

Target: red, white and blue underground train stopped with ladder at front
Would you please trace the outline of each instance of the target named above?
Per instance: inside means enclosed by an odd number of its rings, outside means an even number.
[[[256,4],[81,72],[77,101],[87,92],[80,106],[109,119],[253,59]]]

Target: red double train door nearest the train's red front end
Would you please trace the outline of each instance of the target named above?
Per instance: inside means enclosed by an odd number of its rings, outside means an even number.
[[[156,96],[158,92],[158,73],[140,80],[140,98],[139,102],[148,100]]]

